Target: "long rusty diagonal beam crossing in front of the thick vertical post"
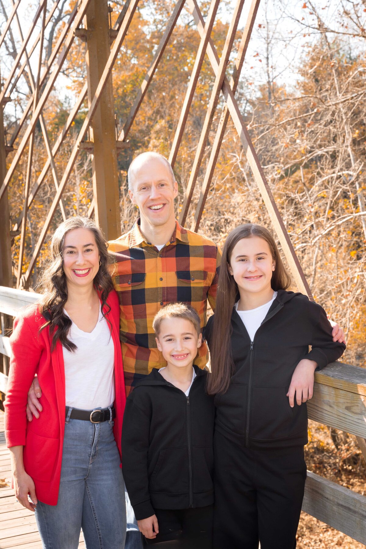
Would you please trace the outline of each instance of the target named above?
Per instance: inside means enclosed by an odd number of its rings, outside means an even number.
[[[58,188],[58,191],[53,199],[53,202],[50,206],[50,209],[49,209],[49,212],[48,212],[48,215],[46,217],[46,220],[44,221],[44,225],[42,227],[42,231],[41,231],[41,234],[40,234],[40,237],[38,238],[38,242],[36,244],[36,247],[35,247],[35,250],[33,251],[33,255],[31,257],[31,260],[29,262],[29,265],[28,265],[28,268],[27,268],[27,272],[25,273],[25,282],[27,283],[27,281],[29,281],[29,278],[31,276],[31,273],[32,273],[32,270],[33,270],[33,267],[35,266],[35,263],[37,261],[37,257],[38,255],[40,254],[40,251],[41,251],[41,248],[42,248],[42,245],[43,245],[43,242],[44,242],[44,239],[46,238],[46,234],[47,234],[47,231],[48,231],[48,228],[49,228],[49,225],[50,225],[50,222],[52,221],[52,218],[53,218],[53,215],[54,215],[54,212],[57,208],[57,204],[58,204],[58,201],[61,197],[61,194],[63,193],[64,191],[64,188],[66,186],[66,183],[69,179],[69,176],[70,176],[70,173],[71,173],[71,170],[72,168],[74,167],[74,164],[75,164],[75,161],[76,161],[76,157],[77,157],[77,154],[78,154],[78,146],[79,144],[81,143],[83,137],[85,136],[85,133],[86,131],[88,130],[88,127],[89,125],[91,124],[91,120],[93,118],[93,115],[95,113],[95,110],[97,109],[98,107],[98,104],[99,104],[99,101],[100,101],[100,98],[102,96],[102,93],[103,93],[103,89],[106,85],[106,82],[108,80],[108,77],[110,76],[111,74],[111,71],[112,71],[112,68],[113,68],[113,65],[115,63],[115,60],[117,58],[117,55],[120,51],[120,48],[121,48],[121,45],[122,45],[122,42],[123,42],[123,39],[125,38],[126,36],[126,33],[127,33],[127,30],[128,30],[128,27],[129,27],[129,24],[131,23],[131,20],[132,20],[132,17],[133,17],[133,14],[134,12],[136,11],[136,8],[137,8],[137,4],[138,4],[138,1],[139,0],[132,0],[132,2],[129,4],[129,7],[128,7],[128,10],[127,10],[127,13],[126,13],[126,16],[125,16],[125,19],[123,19],[123,23],[120,27],[120,30],[119,30],[119,33],[117,35],[117,38],[116,38],[116,41],[114,43],[114,46],[112,47],[111,49],[111,52],[110,52],[110,55],[109,55],[109,58],[108,58],[108,61],[107,63],[105,64],[105,67],[104,67],[104,71],[103,71],[103,74],[102,74],[102,77],[100,79],[100,82],[98,84],[98,87],[95,91],[95,94],[94,94],[94,97],[92,99],[92,102],[91,102],[91,105],[89,107],[89,110],[88,110],[88,113],[86,115],[86,118],[83,122],[83,125],[81,127],[81,130],[79,132],[79,135],[76,139],[76,143],[74,145],[74,148],[72,149],[72,152],[70,154],[70,158],[69,158],[69,162],[67,163],[67,166],[66,166],[66,169],[65,169],[65,172],[64,172],[64,175],[60,181],[60,186]]]

